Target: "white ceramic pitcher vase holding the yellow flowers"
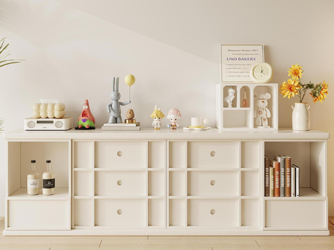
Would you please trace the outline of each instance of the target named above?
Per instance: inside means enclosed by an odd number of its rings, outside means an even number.
[[[292,130],[310,130],[310,106],[307,102],[295,102],[291,106],[292,111]]]

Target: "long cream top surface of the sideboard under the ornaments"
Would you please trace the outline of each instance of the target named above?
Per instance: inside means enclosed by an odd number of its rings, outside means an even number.
[[[170,130],[163,128],[154,130],[151,127],[142,127],[141,131],[103,131],[101,127],[95,130],[67,131],[24,131],[23,129],[6,132],[3,138],[8,140],[19,139],[329,139],[329,134],[317,130],[294,131],[280,129],[278,131],[222,131],[212,128],[207,131]]]

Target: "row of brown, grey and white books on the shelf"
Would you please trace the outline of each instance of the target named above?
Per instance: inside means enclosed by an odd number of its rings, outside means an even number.
[[[291,157],[275,155],[274,159],[264,156],[264,196],[299,197],[301,170],[291,164]]]

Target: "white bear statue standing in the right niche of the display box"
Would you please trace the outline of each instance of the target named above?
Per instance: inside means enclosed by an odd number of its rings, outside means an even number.
[[[271,95],[269,93],[265,94],[254,94],[254,127],[265,128],[270,127],[268,125],[268,118],[271,117],[270,111],[267,108],[268,100]]]

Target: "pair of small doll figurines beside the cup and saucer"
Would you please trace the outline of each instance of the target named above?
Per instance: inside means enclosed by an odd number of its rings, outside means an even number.
[[[153,118],[152,127],[154,130],[160,130],[161,127],[161,119],[164,118],[164,113],[161,112],[161,109],[158,108],[157,105],[154,106],[154,111],[151,114],[151,118]],[[176,130],[179,125],[176,123],[178,119],[182,118],[179,109],[170,109],[168,111],[167,119],[169,119],[170,123],[167,124],[167,127],[170,127],[171,130]]]

